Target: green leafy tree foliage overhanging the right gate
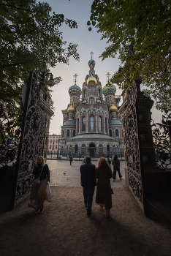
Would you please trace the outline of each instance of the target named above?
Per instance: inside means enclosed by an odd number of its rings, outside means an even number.
[[[88,21],[110,43],[102,60],[117,53],[121,59],[111,81],[124,89],[141,76],[159,110],[171,108],[170,16],[169,0],[95,0]]]

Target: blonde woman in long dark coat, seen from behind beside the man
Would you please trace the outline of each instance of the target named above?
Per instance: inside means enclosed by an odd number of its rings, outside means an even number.
[[[96,185],[96,203],[99,206],[104,206],[105,217],[110,217],[110,209],[112,208],[112,195],[110,178],[113,177],[113,172],[110,165],[104,157],[100,157],[96,168],[95,177],[98,178]]]

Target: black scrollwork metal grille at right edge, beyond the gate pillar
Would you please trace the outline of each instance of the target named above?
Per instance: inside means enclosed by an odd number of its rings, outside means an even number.
[[[153,145],[156,164],[164,169],[171,169],[171,113],[162,116],[161,124],[152,120]]]

